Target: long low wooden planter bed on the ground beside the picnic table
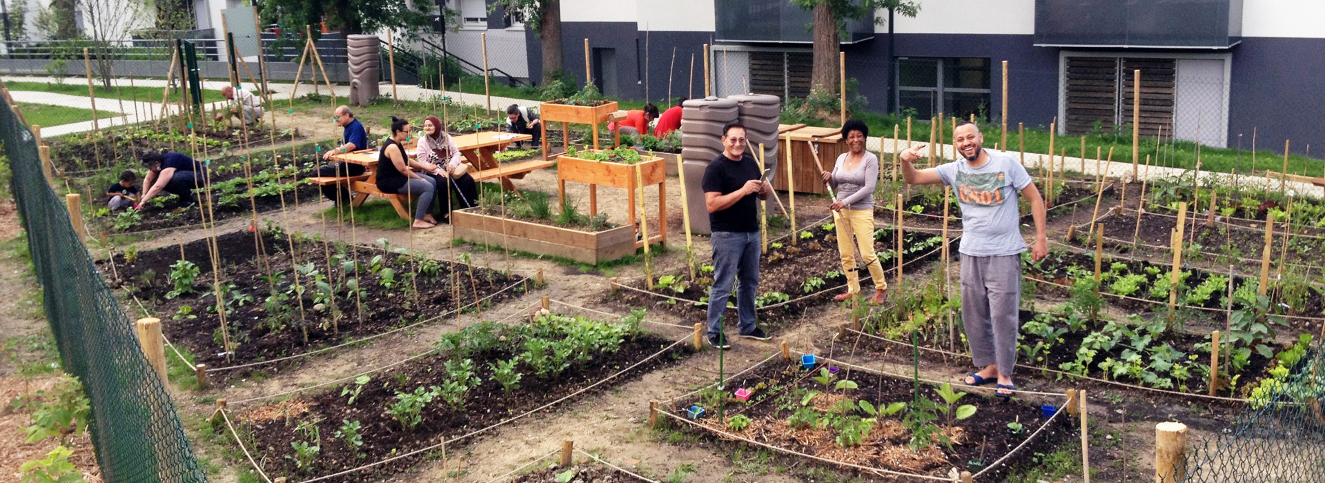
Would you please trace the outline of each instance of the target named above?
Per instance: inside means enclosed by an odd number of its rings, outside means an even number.
[[[456,238],[594,265],[635,253],[635,228],[629,225],[582,232],[481,214],[478,209],[452,212],[450,226]]]

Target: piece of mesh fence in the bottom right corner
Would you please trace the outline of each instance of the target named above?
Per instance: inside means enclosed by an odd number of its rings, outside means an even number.
[[[1325,482],[1325,349],[1272,369],[1247,408],[1187,453],[1183,483]],[[1276,373],[1277,372],[1277,373]]]

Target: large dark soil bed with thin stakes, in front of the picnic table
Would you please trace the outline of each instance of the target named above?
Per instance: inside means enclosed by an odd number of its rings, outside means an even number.
[[[299,275],[299,283],[305,288],[303,295],[295,296],[293,294],[294,263],[286,237],[262,234],[258,240],[261,241],[261,253],[265,257],[258,253],[253,233],[236,232],[223,234],[216,240],[221,254],[220,265],[224,267],[221,283],[223,286],[233,285],[227,323],[231,340],[238,345],[229,360],[225,359],[225,351],[220,343],[220,318],[212,310],[216,299],[209,294],[213,288],[213,277],[207,240],[184,245],[184,258],[197,266],[199,274],[195,279],[193,292],[174,299],[166,296],[174,288],[170,275],[171,265],[180,259],[178,245],[138,254],[132,263],[126,263],[125,255],[117,254],[114,269],[107,261],[99,261],[98,266],[111,286],[136,294],[147,311],[162,319],[162,329],[171,343],[188,348],[196,359],[195,363],[207,364],[209,368],[297,355],[384,332],[441,315],[458,306],[470,304],[476,299],[485,298],[522,279],[490,269],[474,267],[470,271],[470,267],[457,266],[448,261],[416,259],[415,263],[411,263],[407,255],[387,253],[383,249],[354,249],[343,243],[323,246],[317,241],[295,241],[294,247],[298,251],[299,265],[311,263],[318,274],[326,277],[329,283],[341,288],[334,304],[322,304],[322,310],[318,310],[318,303],[313,296],[319,290],[311,283],[309,275]],[[330,251],[333,257],[331,269],[327,267],[326,251]],[[342,259],[335,258],[339,253],[344,253]],[[384,259],[382,262],[384,270],[374,273],[371,270],[372,259],[379,255]],[[264,259],[269,261],[270,273],[277,274],[280,279],[278,291],[289,296],[289,299],[278,300],[272,306],[280,307],[277,308],[280,314],[272,314],[264,303],[272,295],[270,285],[266,281],[269,271],[262,263]],[[343,263],[348,263],[351,259],[360,265],[358,277],[359,286],[363,288],[360,295],[363,320],[358,320],[358,298],[346,288],[346,279],[352,279],[355,274],[352,265]],[[394,270],[396,285],[392,288],[384,286],[386,269]],[[413,270],[423,273],[417,278],[417,304],[415,304],[409,277]],[[458,274],[458,286],[452,285],[453,270]],[[386,283],[390,285],[390,282]],[[458,298],[456,291],[458,291]],[[519,296],[523,292],[525,286],[517,285],[514,288],[485,300],[484,306]],[[241,304],[236,300],[237,294],[252,299]],[[306,319],[303,327],[307,329],[306,343],[299,322],[301,299]],[[337,319],[333,315],[335,311],[339,311],[342,316],[338,318],[337,324],[333,324],[333,319]],[[270,364],[252,369],[270,373],[280,372],[281,368],[281,364]],[[249,373],[246,369],[213,372],[212,377],[224,382],[229,377],[246,373]]]

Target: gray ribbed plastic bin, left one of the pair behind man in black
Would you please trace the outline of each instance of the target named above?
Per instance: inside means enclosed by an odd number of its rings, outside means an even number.
[[[722,155],[722,126],[737,120],[735,101],[709,97],[681,105],[681,165],[685,168],[685,202],[690,232],[709,234],[709,210],[704,206],[704,169]]]

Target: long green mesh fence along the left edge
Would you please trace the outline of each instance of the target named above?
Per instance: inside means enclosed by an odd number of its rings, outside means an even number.
[[[106,482],[207,482],[170,393],[41,171],[36,139],[0,102],[0,143],[65,371],[91,401],[89,433]]]

